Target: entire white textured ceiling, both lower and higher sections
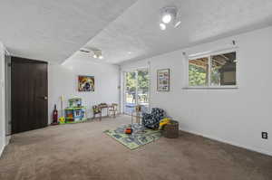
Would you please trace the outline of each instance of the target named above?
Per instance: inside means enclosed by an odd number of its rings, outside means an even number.
[[[160,31],[166,5],[180,9],[180,28]],[[98,61],[76,52],[87,43],[102,62],[121,63],[272,25],[272,1],[1,0],[0,24],[0,41],[18,56]]]

